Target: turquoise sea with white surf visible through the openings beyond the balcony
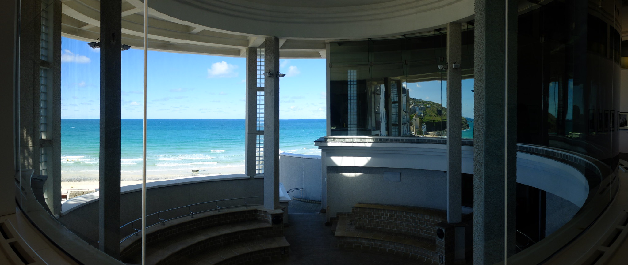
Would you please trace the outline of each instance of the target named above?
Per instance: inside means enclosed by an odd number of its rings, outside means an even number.
[[[150,175],[181,177],[244,172],[244,120],[148,120],[146,169]],[[62,179],[93,180],[99,162],[99,120],[61,122]],[[279,148],[320,155],[314,140],[325,136],[325,120],[281,120]],[[142,120],[122,120],[122,179],[142,170]],[[133,177],[136,176],[136,177]]]

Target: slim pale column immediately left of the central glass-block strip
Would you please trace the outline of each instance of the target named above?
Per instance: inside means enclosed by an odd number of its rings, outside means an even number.
[[[244,140],[244,173],[251,178],[256,174],[255,151],[257,137],[257,48],[246,48],[246,121]]]

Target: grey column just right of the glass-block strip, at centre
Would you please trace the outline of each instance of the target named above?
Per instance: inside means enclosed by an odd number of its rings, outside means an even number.
[[[264,41],[264,207],[279,208],[279,38]]]

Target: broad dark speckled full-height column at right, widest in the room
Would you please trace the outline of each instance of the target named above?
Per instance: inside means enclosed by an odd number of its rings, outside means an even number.
[[[515,250],[516,44],[517,1],[475,0],[474,264]]]

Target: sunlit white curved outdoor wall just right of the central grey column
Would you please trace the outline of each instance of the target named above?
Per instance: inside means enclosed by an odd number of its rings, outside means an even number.
[[[279,182],[286,190],[303,188],[303,199],[321,200],[320,155],[298,155],[279,153]],[[291,197],[300,197],[295,190]]]

